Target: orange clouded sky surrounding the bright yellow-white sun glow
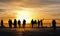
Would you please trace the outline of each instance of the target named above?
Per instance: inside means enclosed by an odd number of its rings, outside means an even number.
[[[38,15],[39,12],[43,12],[42,15],[47,18],[49,16],[60,18],[60,0],[0,0],[0,17],[7,17],[7,15],[15,17],[14,10],[22,8],[33,8]]]

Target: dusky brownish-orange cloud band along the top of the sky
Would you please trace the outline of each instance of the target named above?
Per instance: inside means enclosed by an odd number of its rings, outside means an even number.
[[[21,7],[44,7],[51,4],[60,4],[60,0],[0,0],[0,2]]]

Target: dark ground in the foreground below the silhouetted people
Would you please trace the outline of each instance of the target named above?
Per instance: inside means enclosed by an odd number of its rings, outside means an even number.
[[[19,28],[0,28],[0,36],[60,36],[60,28],[32,28],[33,30],[17,31]]]

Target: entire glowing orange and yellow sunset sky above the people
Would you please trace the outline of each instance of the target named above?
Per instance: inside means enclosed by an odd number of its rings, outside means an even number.
[[[0,0],[0,19],[60,18],[60,0]]]

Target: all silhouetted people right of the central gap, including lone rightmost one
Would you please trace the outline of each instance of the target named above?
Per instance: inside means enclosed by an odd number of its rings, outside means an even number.
[[[41,19],[41,20],[38,20],[38,22],[37,22],[36,20],[34,21],[34,20],[32,19],[32,21],[31,21],[32,28],[33,28],[33,25],[34,25],[34,24],[38,24],[38,28],[39,28],[39,27],[43,27],[43,20],[44,20],[44,19]],[[54,30],[56,29],[56,20],[55,20],[55,19],[52,20],[52,28],[53,28]]]

